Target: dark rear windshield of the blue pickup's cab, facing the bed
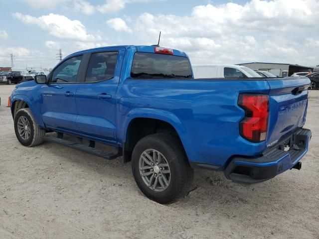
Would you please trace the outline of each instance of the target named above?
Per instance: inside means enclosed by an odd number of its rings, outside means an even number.
[[[136,52],[131,77],[148,78],[192,78],[188,58],[156,53]]]

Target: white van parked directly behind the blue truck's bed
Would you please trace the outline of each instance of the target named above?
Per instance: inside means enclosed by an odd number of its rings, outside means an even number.
[[[238,65],[192,65],[194,78],[260,78],[246,66]]]

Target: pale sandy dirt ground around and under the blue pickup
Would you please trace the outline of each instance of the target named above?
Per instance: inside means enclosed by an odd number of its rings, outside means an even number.
[[[251,186],[195,170],[188,195],[160,205],[121,158],[19,144],[5,107],[13,88],[0,85],[0,239],[319,239],[319,91],[310,92],[302,170]]]

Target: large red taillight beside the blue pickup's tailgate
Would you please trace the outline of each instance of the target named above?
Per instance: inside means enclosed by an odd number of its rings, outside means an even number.
[[[268,104],[266,95],[239,95],[238,105],[245,110],[245,118],[239,122],[241,136],[252,142],[261,142],[266,139]]]

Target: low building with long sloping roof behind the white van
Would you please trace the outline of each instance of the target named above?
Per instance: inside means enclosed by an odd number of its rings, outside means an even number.
[[[296,72],[307,72],[309,69],[314,70],[314,67],[310,66],[267,62],[250,62],[238,65],[249,67],[252,70],[268,71],[278,77],[291,76]]]

